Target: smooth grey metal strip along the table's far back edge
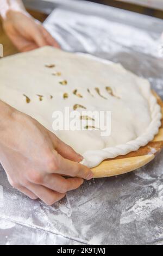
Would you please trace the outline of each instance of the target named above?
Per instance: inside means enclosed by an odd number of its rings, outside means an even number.
[[[131,25],[137,28],[146,29],[147,31],[162,32],[163,21],[147,15],[133,13],[127,10],[121,10],[109,7],[103,4],[97,4],[82,0],[23,0],[26,7],[43,11],[50,14],[54,8],[77,11],[97,15],[111,21],[120,21],[123,24]]]

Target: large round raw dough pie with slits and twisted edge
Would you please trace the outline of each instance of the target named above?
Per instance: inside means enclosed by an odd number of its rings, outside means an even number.
[[[108,137],[101,137],[99,130],[55,131],[83,154],[83,164],[89,167],[146,145],[161,125],[148,81],[106,60],[47,46],[2,58],[0,81],[1,100],[52,132],[52,113],[66,106],[79,112],[82,107],[111,111]]]

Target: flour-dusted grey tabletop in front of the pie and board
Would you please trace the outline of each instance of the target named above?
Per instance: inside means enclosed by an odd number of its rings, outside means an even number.
[[[162,164],[160,154],[135,172],[87,181],[53,206],[13,190],[1,171],[4,206],[0,204],[0,224],[10,229],[0,229],[0,235],[8,236],[2,236],[0,243],[162,244]]]

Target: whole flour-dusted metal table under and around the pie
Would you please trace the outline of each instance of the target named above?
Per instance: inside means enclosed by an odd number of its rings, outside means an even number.
[[[35,1],[25,2],[36,8]],[[46,13],[55,7],[45,26],[64,50],[120,62],[148,78],[163,98],[158,51],[162,20],[86,1],[51,0],[39,5]],[[162,245],[162,156],[128,174],[85,181],[53,206],[14,190],[1,167],[0,244]]]

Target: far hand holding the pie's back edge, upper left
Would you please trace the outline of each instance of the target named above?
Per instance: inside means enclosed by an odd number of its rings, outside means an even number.
[[[52,35],[28,13],[8,10],[3,20],[3,28],[9,39],[21,52],[46,45],[59,48]]]

